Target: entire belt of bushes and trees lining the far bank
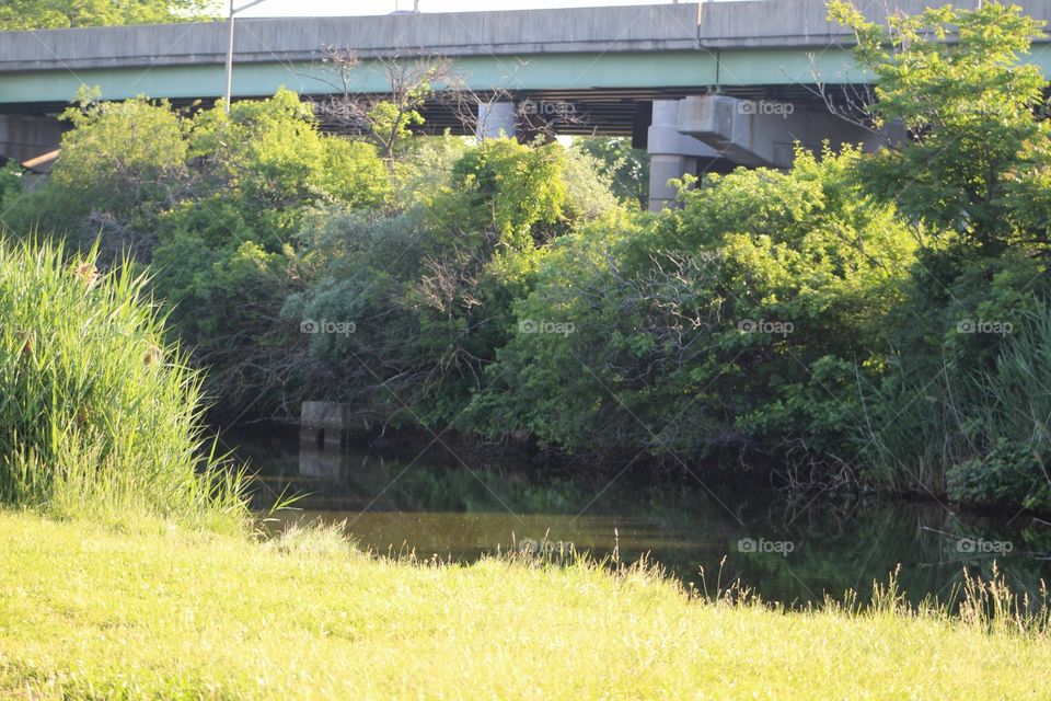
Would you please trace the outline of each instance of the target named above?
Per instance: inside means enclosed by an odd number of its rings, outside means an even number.
[[[0,172],[4,218],[151,264],[232,416],[325,398],[436,434],[1048,508],[1039,26],[996,3],[889,34],[831,13],[878,78],[862,116],[910,138],[684,183],[660,215],[625,141],[400,131],[381,152],[281,91],[229,116],[85,95],[45,187]]]

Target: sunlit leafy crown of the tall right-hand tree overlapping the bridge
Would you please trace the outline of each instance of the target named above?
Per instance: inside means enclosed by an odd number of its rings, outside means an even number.
[[[830,18],[854,30],[855,56],[875,77],[873,123],[898,119],[912,136],[865,164],[869,187],[986,254],[1010,242],[1047,249],[1047,81],[1019,62],[1043,23],[996,2],[893,15],[885,27],[836,0]]]

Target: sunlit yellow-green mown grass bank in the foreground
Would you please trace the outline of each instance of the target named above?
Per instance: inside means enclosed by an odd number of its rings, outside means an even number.
[[[1047,699],[1051,637],[0,513],[0,698]]]

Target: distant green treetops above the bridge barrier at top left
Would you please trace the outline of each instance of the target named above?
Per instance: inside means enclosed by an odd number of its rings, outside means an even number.
[[[187,22],[212,8],[209,0],[5,0],[0,31]]]

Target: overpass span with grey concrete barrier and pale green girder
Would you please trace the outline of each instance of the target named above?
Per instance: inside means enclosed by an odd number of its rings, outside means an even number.
[[[957,1],[975,4],[978,0]],[[862,0],[869,16],[885,0]],[[893,0],[916,12],[924,0]],[[1051,19],[1051,3],[1025,0],[1027,12]],[[223,88],[224,22],[2,33],[0,105],[56,105],[82,84],[107,99],[137,94],[188,100]],[[385,77],[370,59],[441,55],[475,90],[562,91],[578,99],[636,91],[654,99],[683,90],[815,82],[865,82],[848,46],[852,35],[829,23],[823,0],[746,0],[509,12],[396,14],[367,18],[238,21],[233,92],[272,94],[286,85],[328,92],[325,46],[353,48],[362,64],[354,89],[383,92]],[[1051,74],[1051,46],[1033,60]]]

